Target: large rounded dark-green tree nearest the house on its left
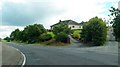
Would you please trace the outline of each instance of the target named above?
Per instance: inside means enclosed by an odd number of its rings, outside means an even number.
[[[46,29],[41,24],[34,24],[26,26],[23,30],[24,41],[28,43],[35,43],[39,41],[39,36],[46,33]]]

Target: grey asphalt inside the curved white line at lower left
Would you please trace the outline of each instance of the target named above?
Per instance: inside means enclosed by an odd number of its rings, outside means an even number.
[[[4,43],[0,44],[2,47],[1,57],[2,65],[22,65],[24,57],[22,53],[11,46]]]

